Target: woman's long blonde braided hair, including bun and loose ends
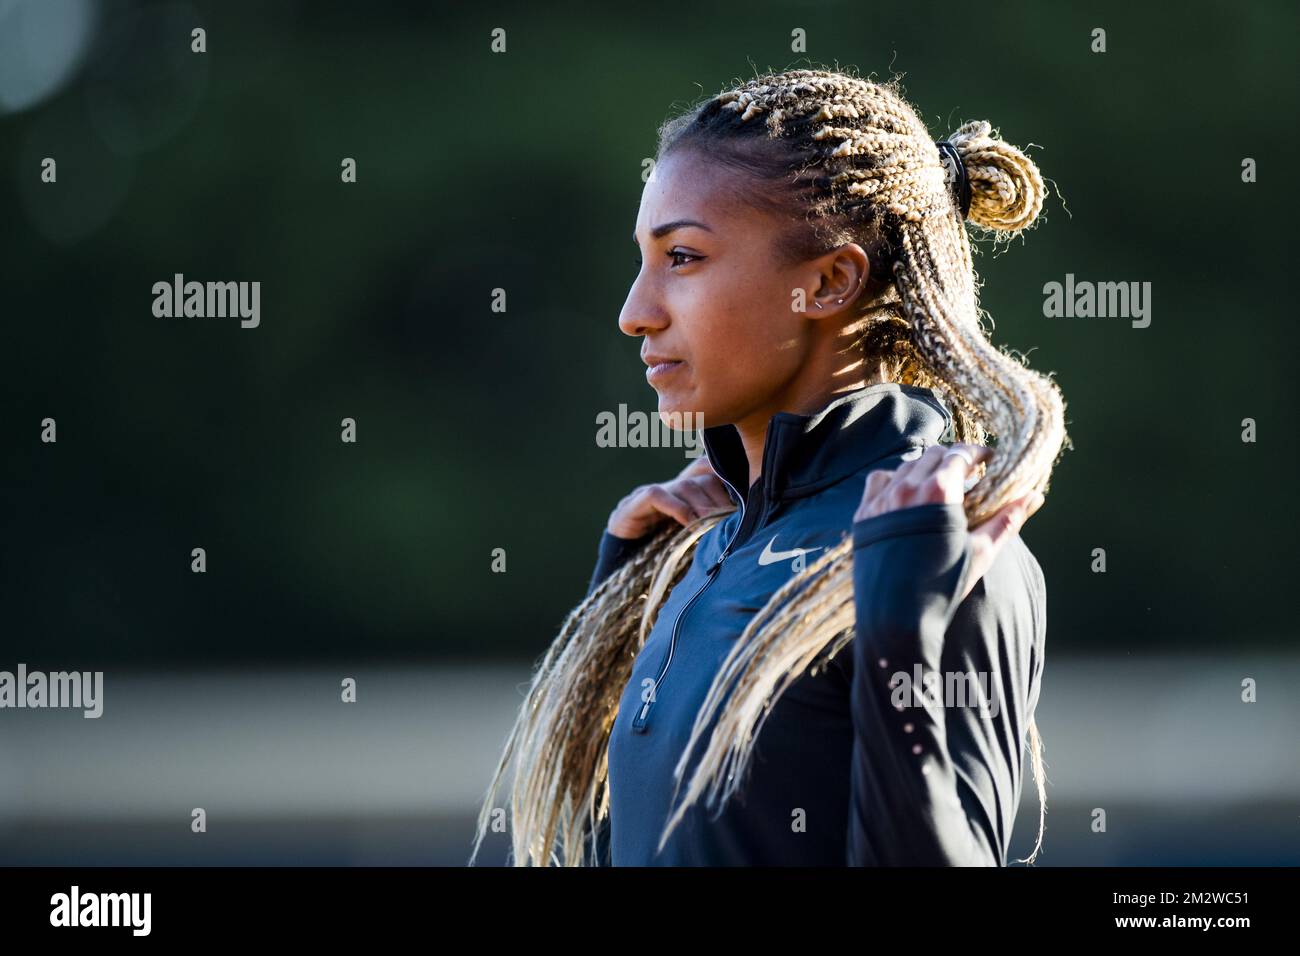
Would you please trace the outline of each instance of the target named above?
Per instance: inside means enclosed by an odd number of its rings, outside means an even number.
[[[1005,239],[1035,222],[1045,190],[1032,160],[983,121],[965,124],[948,142],[966,168],[967,219],[978,229]],[[710,161],[734,168],[755,206],[803,211],[803,222],[777,243],[792,259],[846,242],[868,251],[872,277],[857,303],[861,320],[850,326],[861,333],[857,347],[893,381],[944,397],[958,441],[994,438],[993,455],[965,498],[972,527],[1031,490],[1046,493],[1069,444],[1063,398],[1049,377],[988,339],[949,174],[896,81],[819,69],[763,74],[666,122],[659,159],[684,148],[705,148]],[[589,838],[608,810],[610,728],[633,658],[696,542],[718,520],[660,529],[569,614],[534,672],[488,788],[474,856],[514,757],[512,860],[594,861]],[[720,806],[742,786],[772,702],[853,639],[854,614],[852,540],[845,536],[772,594],[719,669],[679,760],[679,788],[707,732],[705,750],[660,848],[701,796]],[[1046,813],[1043,740],[1032,718],[1027,736],[1039,834],[1034,853],[1020,862],[1037,856]],[[1011,769],[1017,780],[1019,770]]]

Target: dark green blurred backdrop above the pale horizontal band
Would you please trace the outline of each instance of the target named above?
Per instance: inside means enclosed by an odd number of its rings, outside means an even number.
[[[809,60],[905,73],[936,139],[987,118],[1065,196],[978,260],[1069,402],[1023,532],[1050,646],[1294,646],[1295,4],[53,5],[84,56],[0,116],[5,666],[540,654],[684,464],[595,445],[655,407],[616,325],[655,129]],[[12,94],[77,47],[3,48]],[[177,272],[260,281],[261,325],[156,319]],[[1150,326],[1044,317],[1067,272],[1152,282]]]

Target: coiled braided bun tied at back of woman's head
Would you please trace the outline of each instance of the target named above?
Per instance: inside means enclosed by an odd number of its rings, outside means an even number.
[[[984,120],[966,124],[948,142],[956,147],[970,179],[971,222],[1000,233],[1027,229],[1043,211],[1043,174],[1020,150],[997,138]]]

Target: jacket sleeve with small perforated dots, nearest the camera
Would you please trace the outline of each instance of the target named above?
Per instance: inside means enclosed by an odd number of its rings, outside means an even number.
[[[853,525],[850,866],[1005,866],[1045,602],[1018,537],[959,601],[958,503]],[[1040,575],[1040,572],[1039,572]]]

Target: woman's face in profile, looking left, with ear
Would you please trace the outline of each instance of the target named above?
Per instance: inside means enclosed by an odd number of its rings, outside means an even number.
[[[827,319],[848,308],[836,298],[848,303],[864,278],[848,274],[853,254],[848,273],[842,255],[780,264],[776,238],[792,224],[738,202],[737,182],[685,150],[656,165],[641,195],[633,237],[641,271],[619,328],[645,337],[646,377],[660,416],[681,416],[664,419],[677,428],[694,412],[707,427],[816,407],[812,393],[835,373],[833,356],[818,358],[829,351]],[[803,312],[792,310],[796,289],[805,291]],[[816,308],[814,297],[829,308]]]

